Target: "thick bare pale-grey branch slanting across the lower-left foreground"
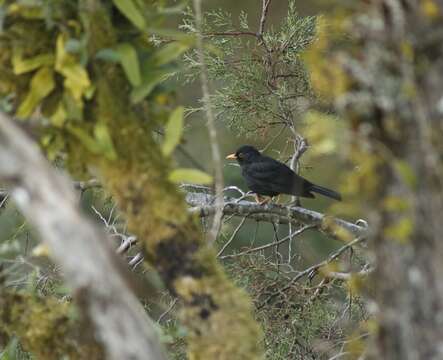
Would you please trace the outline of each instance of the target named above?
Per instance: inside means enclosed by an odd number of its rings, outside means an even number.
[[[0,114],[0,179],[40,232],[95,325],[109,359],[165,359],[151,320],[109,241],[76,207],[70,181]]]

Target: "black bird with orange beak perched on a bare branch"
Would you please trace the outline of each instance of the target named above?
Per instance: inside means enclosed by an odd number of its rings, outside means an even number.
[[[243,145],[226,159],[238,161],[246,184],[258,195],[257,201],[260,203],[265,202],[261,201],[261,196],[288,194],[314,198],[313,192],[341,201],[338,192],[311,183],[280,161],[262,155],[253,146]]]

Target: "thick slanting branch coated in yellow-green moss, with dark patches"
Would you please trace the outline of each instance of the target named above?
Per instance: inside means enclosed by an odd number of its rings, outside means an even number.
[[[102,15],[89,13],[87,26],[93,34],[109,34],[106,43],[114,30]],[[118,154],[115,161],[97,162],[102,182],[167,287],[183,300],[189,357],[260,358],[261,331],[251,303],[223,273],[196,219],[188,214],[183,195],[168,181],[171,166],[153,139],[155,124],[146,123],[130,106],[123,74],[115,66],[96,64],[94,78],[97,95],[91,119],[107,123]]]

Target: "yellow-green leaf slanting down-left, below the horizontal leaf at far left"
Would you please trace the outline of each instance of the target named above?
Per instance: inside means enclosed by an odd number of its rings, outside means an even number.
[[[35,73],[31,80],[31,88],[25,100],[17,110],[19,118],[32,115],[40,102],[48,96],[55,87],[54,72],[48,67],[43,67]]]

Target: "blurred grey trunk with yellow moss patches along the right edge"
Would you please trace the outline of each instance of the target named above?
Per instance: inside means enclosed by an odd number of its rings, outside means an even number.
[[[349,20],[349,19],[348,19]],[[439,1],[361,2],[336,98],[368,200],[377,359],[443,357],[443,12]],[[343,54],[342,54],[343,55]],[[362,170],[360,170],[362,171]]]

